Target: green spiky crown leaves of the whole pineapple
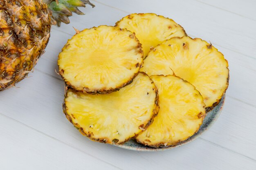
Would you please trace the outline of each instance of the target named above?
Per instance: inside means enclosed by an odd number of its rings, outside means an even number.
[[[72,12],[78,15],[84,15],[77,7],[85,7],[85,4],[89,4],[95,7],[89,0],[43,0],[49,8],[52,14],[51,23],[53,25],[61,26],[61,22],[69,24],[69,16],[72,16]]]

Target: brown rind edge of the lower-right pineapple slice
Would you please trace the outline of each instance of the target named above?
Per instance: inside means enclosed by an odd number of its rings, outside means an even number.
[[[189,135],[189,136],[187,136],[186,137],[186,139],[184,139],[184,140],[177,140],[177,141],[169,141],[169,142],[158,142],[158,143],[151,143],[151,141],[150,140],[148,140],[148,139],[143,139],[143,140],[141,140],[141,139],[139,139],[139,138],[136,138],[135,140],[138,142],[138,143],[140,143],[140,144],[143,144],[143,145],[145,145],[145,146],[150,146],[150,147],[153,147],[153,148],[168,148],[168,147],[173,147],[173,146],[176,146],[177,144],[179,144],[180,142],[182,142],[182,141],[186,141],[187,139],[189,139],[191,136],[193,136],[196,132],[198,132],[198,130],[200,129],[200,126],[202,125],[202,122],[203,122],[203,120],[204,120],[204,117],[206,116],[206,110],[205,110],[205,104],[204,104],[204,102],[203,102],[203,97],[202,97],[202,95],[200,94],[200,92],[198,91],[198,90],[196,90],[196,88],[195,88],[195,86],[193,86],[191,83],[189,83],[189,82],[187,82],[186,80],[184,80],[184,79],[182,79],[182,78],[180,78],[180,77],[178,77],[178,76],[176,76],[176,75],[152,75],[152,76],[150,76],[150,78],[153,78],[153,77],[177,77],[178,79],[180,79],[180,80],[182,80],[182,82],[184,82],[185,84],[187,84],[187,85],[189,85],[189,86],[191,86],[191,87],[193,87],[193,90],[198,94],[197,95],[197,97],[200,97],[201,98],[201,105],[202,105],[202,108],[204,109],[203,111],[200,111],[199,113],[195,113],[194,115],[197,115],[197,117],[199,118],[199,119],[201,119],[201,122],[198,124],[198,128],[194,131],[194,133],[193,134],[191,134],[191,135]],[[153,80],[154,81],[154,80]],[[157,85],[157,84],[156,84]],[[167,84],[166,84],[166,86],[168,86]],[[160,96],[159,96],[160,97]],[[160,101],[161,102],[161,101]],[[160,108],[161,109],[161,108]],[[161,114],[161,113],[159,113],[159,114]],[[166,126],[168,126],[168,125],[166,125]],[[159,130],[162,130],[162,129],[159,129]],[[143,133],[143,132],[142,132]],[[160,133],[160,132],[159,132]]]

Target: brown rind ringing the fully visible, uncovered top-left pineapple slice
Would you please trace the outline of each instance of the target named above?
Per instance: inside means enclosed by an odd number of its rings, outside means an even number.
[[[118,28],[116,26],[107,26],[107,25],[101,25],[101,26],[98,26],[98,27],[92,27],[90,29],[97,30],[100,27],[105,27],[105,26],[109,27],[109,28],[115,28],[115,31],[118,30],[118,31],[130,32],[127,29],[120,29],[120,28]],[[83,31],[90,30],[90,29],[84,29]],[[81,33],[81,32],[82,31],[80,31],[79,33]],[[79,33],[76,33],[76,35],[79,34]],[[72,39],[73,38],[74,38],[74,36],[72,37]],[[142,63],[143,63],[143,50],[142,50],[141,44],[139,43],[139,40],[135,36],[135,33],[130,32],[129,38],[132,38],[137,43],[137,45],[134,46],[134,49],[136,50],[136,53],[138,55],[140,55],[140,59],[141,60],[139,62],[137,62],[137,64],[134,67],[138,68],[138,71],[136,71],[126,82],[122,82],[121,84],[118,84],[115,88],[101,88],[101,89],[98,89],[98,88],[88,88],[87,86],[83,86],[83,87],[75,86],[69,80],[67,80],[65,78],[65,76],[64,76],[64,72],[65,71],[62,68],[60,68],[59,62],[58,62],[58,67],[59,67],[59,72],[58,73],[61,75],[62,79],[65,81],[67,86],[73,88],[76,91],[80,91],[82,93],[88,93],[88,94],[108,94],[108,93],[112,93],[112,92],[115,92],[115,91],[119,91],[121,88],[123,88],[123,87],[125,87],[125,86],[127,86],[127,85],[132,83],[133,79],[139,74],[139,70],[142,67]],[[69,46],[69,41],[67,42],[67,44],[65,44],[65,46],[62,49],[62,51],[64,51],[67,46]],[[60,54],[58,56],[58,60],[60,60]]]

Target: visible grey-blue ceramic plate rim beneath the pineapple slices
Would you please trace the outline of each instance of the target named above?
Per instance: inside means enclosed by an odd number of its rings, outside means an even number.
[[[118,147],[124,148],[124,149],[129,149],[129,150],[136,150],[136,151],[161,151],[161,150],[168,150],[168,149],[172,149],[172,148],[177,148],[177,147],[180,147],[182,145],[188,144],[189,142],[191,142],[191,141],[197,139],[198,137],[200,137],[200,135],[202,135],[203,132],[208,130],[213,125],[213,123],[217,120],[217,118],[219,117],[219,115],[221,113],[224,102],[225,102],[225,95],[220,100],[220,103],[216,107],[214,107],[213,110],[211,110],[207,113],[207,115],[204,118],[204,121],[203,121],[200,129],[198,130],[198,132],[195,133],[195,135],[191,136],[186,141],[180,142],[176,146],[170,146],[170,147],[166,147],[166,148],[151,148],[149,146],[144,146],[142,144],[139,144],[133,139],[129,140],[128,142],[126,142],[124,144],[115,145],[115,146],[118,146]]]

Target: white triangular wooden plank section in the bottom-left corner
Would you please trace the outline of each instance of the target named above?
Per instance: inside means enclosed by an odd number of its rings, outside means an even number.
[[[119,169],[1,114],[0,135],[1,170]]]

